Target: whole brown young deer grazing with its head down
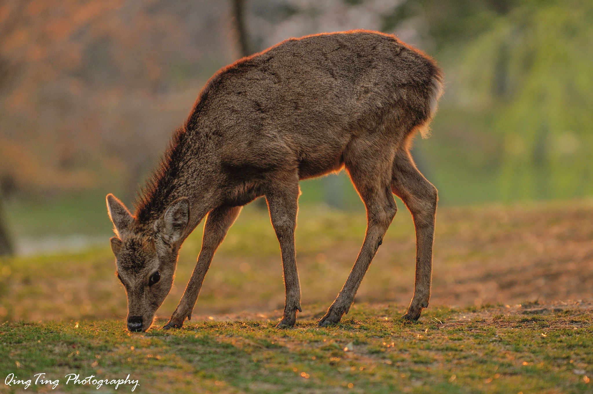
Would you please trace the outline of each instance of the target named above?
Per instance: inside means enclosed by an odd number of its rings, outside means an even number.
[[[281,326],[301,311],[295,262],[299,180],[346,168],[364,201],[364,243],[319,325],[338,323],[354,301],[397,208],[416,227],[416,283],[404,317],[418,319],[431,294],[437,194],[409,153],[441,95],[441,71],[389,34],[347,31],[289,39],[217,72],[134,215],[113,195],[111,248],[127,292],[127,327],[145,331],[169,293],[183,240],[208,214],[192,278],[165,328],[192,316],[216,248],[241,206],[265,196],[280,242],[286,289]]]

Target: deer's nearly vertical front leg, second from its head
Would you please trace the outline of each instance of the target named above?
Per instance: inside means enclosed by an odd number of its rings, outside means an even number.
[[[298,278],[294,237],[295,227],[297,227],[298,195],[298,176],[296,175],[294,179],[284,183],[281,187],[266,193],[270,219],[280,242],[286,290],[284,315],[276,326],[278,328],[294,326],[297,320],[297,310],[302,312],[301,284]]]

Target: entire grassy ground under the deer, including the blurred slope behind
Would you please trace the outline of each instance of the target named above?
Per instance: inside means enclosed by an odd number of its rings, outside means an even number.
[[[178,331],[158,328],[183,293],[201,228],[181,249],[160,320],[141,334],[125,331],[107,246],[2,259],[0,377],[60,380],[55,390],[27,389],[39,392],[97,392],[66,385],[69,373],[130,374],[135,392],[146,393],[593,391],[593,304],[568,301],[593,299],[592,201],[439,209],[431,306],[416,323],[398,317],[413,293],[415,258],[402,208],[350,313],[332,328],[316,323],[358,253],[363,212],[299,212],[304,312],[294,329],[274,328],[284,297],[279,247],[267,214],[253,207],[229,231],[193,320]],[[0,383],[2,392],[23,387]]]

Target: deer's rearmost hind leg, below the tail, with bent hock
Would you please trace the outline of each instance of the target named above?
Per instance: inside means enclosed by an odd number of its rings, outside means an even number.
[[[414,297],[403,317],[417,320],[422,309],[428,307],[428,300],[431,298],[432,243],[438,195],[432,183],[416,168],[406,146],[396,152],[391,188],[410,210],[416,228]]]

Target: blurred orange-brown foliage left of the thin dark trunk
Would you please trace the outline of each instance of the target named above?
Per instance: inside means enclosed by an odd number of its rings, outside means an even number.
[[[0,4],[0,177],[24,192],[127,192],[231,61],[227,4]]]

